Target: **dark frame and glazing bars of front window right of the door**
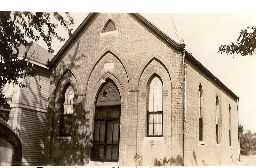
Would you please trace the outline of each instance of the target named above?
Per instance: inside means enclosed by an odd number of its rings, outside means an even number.
[[[162,95],[161,95],[161,97],[162,97],[162,110],[161,111],[154,111],[154,107],[153,107],[153,111],[150,111],[149,110],[149,108],[150,108],[150,85],[151,85],[151,83],[152,83],[152,81],[155,79],[155,77],[157,77],[159,80],[160,80],[160,82],[161,82],[161,87],[162,87]],[[156,75],[156,74],[154,74],[154,75],[152,75],[151,77],[150,77],[150,79],[148,80],[148,85],[147,85],[147,132],[146,132],[146,136],[147,137],[163,137],[163,108],[164,108],[164,96],[163,96],[163,90],[164,90],[164,84],[163,84],[163,81],[162,81],[162,79],[161,79],[161,77],[160,76],[158,76],[158,75]],[[159,98],[159,95],[157,96],[157,98]],[[158,100],[158,99],[157,99]],[[153,100],[154,101],[154,100]],[[153,119],[153,123],[150,123],[150,115],[162,115],[162,117],[161,117],[161,122],[159,122],[159,118],[158,118],[158,120],[157,120],[157,122],[155,123],[155,121],[154,121],[154,119]],[[159,126],[159,124],[161,124],[161,133],[159,134],[158,133],[158,135],[154,135],[154,129],[153,129],[153,134],[150,134],[150,130],[149,130],[149,125],[150,124],[157,124],[158,126]],[[159,131],[159,128],[157,129],[157,132]]]

